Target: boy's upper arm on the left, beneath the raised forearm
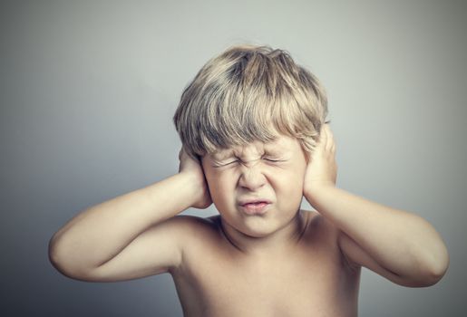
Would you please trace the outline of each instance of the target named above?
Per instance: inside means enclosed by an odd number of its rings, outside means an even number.
[[[175,216],[151,226],[109,261],[72,277],[90,282],[116,282],[170,272],[181,264],[183,246],[193,223],[193,217]]]

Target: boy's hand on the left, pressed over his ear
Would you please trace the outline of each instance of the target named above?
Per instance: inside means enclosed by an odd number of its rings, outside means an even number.
[[[179,153],[179,173],[190,177],[190,184],[197,192],[193,199],[191,207],[205,209],[212,204],[209,194],[208,183],[204,176],[203,168],[198,159],[193,159],[188,155],[185,149],[181,148]]]

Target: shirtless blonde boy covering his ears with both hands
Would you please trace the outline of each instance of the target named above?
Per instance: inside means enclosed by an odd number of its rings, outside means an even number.
[[[231,47],[181,96],[179,173],[74,217],[52,263],[83,281],[170,273],[185,316],[356,316],[361,266],[436,283],[448,254],[433,226],[336,187],[326,113],[288,53]],[[177,216],[211,203],[219,216]]]

